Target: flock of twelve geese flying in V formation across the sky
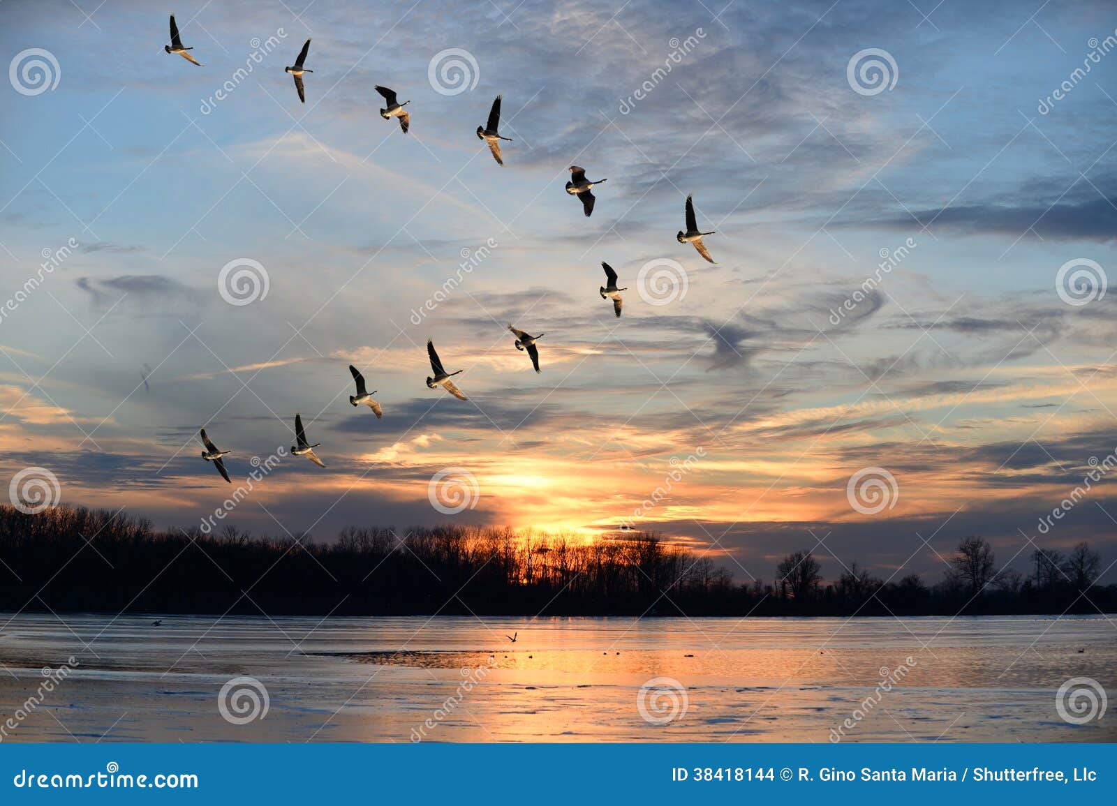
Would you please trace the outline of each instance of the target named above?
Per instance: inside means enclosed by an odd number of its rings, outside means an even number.
[[[171,41],[169,45],[163,46],[163,49],[169,54],[176,54],[182,58],[187,59],[191,64],[202,67],[202,65],[190,55],[189,51],[193,48],[187,48],[182,45],[182,37],[179,35],[179,26],[174,22],[174,15],[171,15]],[[303,49],[298,54],[298,58],[295,59],[295,64],[284,68],[285,73],[289,73],[295,79],[295,89],[298,92],[298,99],[302,103],[306,103],[306,87],[303,84],[303,74],[314,73],[314,70],[307,69],[304,65],[306,64],[307,54],[311,50],[311,40],[307,39],[303,45]],[[404,106],[410,104],[410,100],[404,100],[402,104],[395,94],[394,89],[389,89],[388,87],[382,87],[379,84],[375,85],[375,90],[384,98],[385,107],[380,111],[380,116],[385,121],[391,117],[398,117],[400,121],[400,128],[404,134],[411,126],[411,115],[403,109]],[[493,107],[489,109],[488,121],[485,126],[477,127],[477,137],[484,140],[488,145],[489,151],[493,153],[493,159],[496,160],[498,165],[504,165],[504,159],[500,155],[500,141],[512,142],[510,137],[504,137],[500,135],[500,96],[496,96],[493,102]],[[605,182],[605,180],[590,181],[585,177],[585,169],[579,167],[577,165],[570,166],[570,181],[566,183],[566,192],[571,195],[576,195],[582,201],[582,210],[585,212],[586,218],[593,213],[593,205],[596,199],[593,195],[594,185],[599,185]],[[694,202],[690,196],[687,196],[686,205],[686,224],[687,229],[679,230],[676,239],[679,243],[693,243],[698,253],[703,256],[707,261],[714,262],[714,258],[709,256],[709,251],[706,249],[706,244],[703,243],[703,236],[712,236],[710,232],[700,232],[698,230],[698,222],[695,218]],[[605,271],[605,282],[607,285],[601,286],[599,292],[602,299],[613,300],[613,313],[620,317],[621,307],[623,300],[621,299],[621,291],[628,290],[627,287],[617,287],[617,272],[613,271],[612,267],[602,262],[601,267]],[[526,351],[527,355],[532,359],[532,366],[535,367],[535,372],[540,372],[540,349],[536,346],[536,342],[543,337],[544,334],[538,336],[532,336],[528,333],[521,330],[517,327],[508,325],[508,330],[516,337],[515,345],[516,349]],[[439,358],[438,353],[435,351],[435,344],[431,339],[427,339],[427,355],[430,358],[430,368],[435,373],[433,377],[427,378],[427,386],[435,388],[441,386],[447,392],[452,394],[458,400],[468,400],[461,390],[450,380],[455,375],[461,374],[464,371],[458,370],[457,372],[447,372],[442,367],[442,359]],[[376,394],[375,390],[372,392],[366,391],[364,376],[361,372],[350,365],[350,372],[353,374],[353,381],[356,384],[356,394],[350,395],[350,403],[354,406],[361,405],[362,403],[372,409],[376,419],[383,416],[383,410],[380,407],[380,403],[373,400],[372,395]],[[229,471],[225,467],[225,461],[222,457],[231,451],[219,450],[217,445],[210,440],[209,435],[206,433],[206,429],[201,430],[202,443],[206,445],[206,450],[202,451],[202,459],[213,462],[218,472],[221,477],[232,483],[229,478]],[[311,444],[306,439],[306,431],[303,428],[303,418],[300,414],[295,415],[295,441],[296,444],[292,445],[290,452],[297,457],[306,457],[318,467],[326,467],[321,459],[315,454],[314,449],[317,448],[319,442]]]

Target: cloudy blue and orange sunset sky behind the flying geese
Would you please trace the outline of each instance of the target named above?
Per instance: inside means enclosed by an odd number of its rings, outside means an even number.
[[[3,2],[4,64],[45,49],[58,84],[0,88],[0,304],[78,246],[0,317],[2,478],[195,526],[300,411],[327,468],[284,459],[226,524],[631,519],[738,582],[811,547],[828,576],[937,580],[970,534],[1021,569],[1029,538],[1109,567],[1113,481],[1037,527],[1117,450],[1117,291],[1057,291],[1069,261],[1117,267],[1117,10],[725,3]],[[203,67],[163,51],[171,11]],[[307,37],[304,105],[284,67]],[[447,48],[476,64],[464,92],[429,78]],[[858,93],[870,48],[895,86]],[[411,100],[407,135],[374,84]],[[504,167],[474,133],[497,94]],[[609,180],[590,219],[572,164]],[[675,239],[688,193],[716,265]],[[268,277],[242,306],[218,290],[238,258]],[[638,290],[657,259],[686,277],[665,305]],[[542,374],[508,323],[546,334]],[[427,338],[469,402],[427,388]],[[383,420],[350,405],[350,363]],[[477,493],[449,517],[447,468]],[[847,496],[865,468],[896,480],[876,514]]]

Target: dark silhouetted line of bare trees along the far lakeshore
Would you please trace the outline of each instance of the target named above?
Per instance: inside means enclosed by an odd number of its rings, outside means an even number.
[[[1113,613],[1086,543],[1037,548],[1029,573],[981,537],[942,557],[935,584],[858,563],[822,577],[810,550],[771,582],[737,583],[709,556],[655,534],[439,526],[349,527],[331,543],[235,527],[159,530],[123,512],[0,507],[0,610],[245,615],[954,615]]]

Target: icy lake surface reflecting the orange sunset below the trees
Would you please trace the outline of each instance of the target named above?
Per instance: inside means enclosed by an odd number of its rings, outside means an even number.
[[[4,741],[1117,740],[1056,707],[1073,678],[1117,691],[1100,615],[7,614],[0,663]]]

